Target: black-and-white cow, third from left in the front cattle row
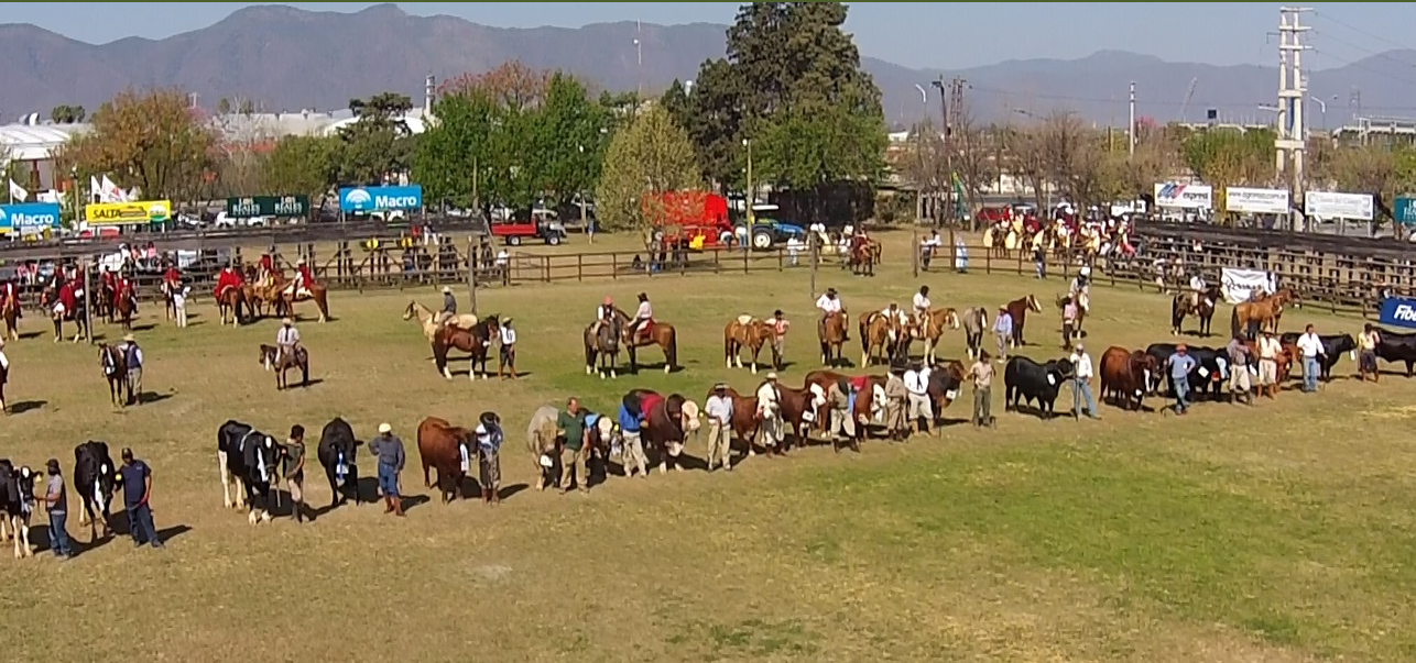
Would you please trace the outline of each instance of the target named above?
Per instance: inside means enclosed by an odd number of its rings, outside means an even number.
[[[246,509],[251,524],[270,522],[270,486],[279,481],[276,465],[282,447],[275,438],[239,421],[227,420],[217,430],[217,462],[227,507]],[[232,483],[241,482],[236,498]]]

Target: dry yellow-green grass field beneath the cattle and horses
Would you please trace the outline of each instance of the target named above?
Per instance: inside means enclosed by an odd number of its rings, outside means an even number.
[[[903,239],[889,240],[898,260]],[[936,305],[954,307],[1028,293],[1051,301],[1063,288],[981,274],[925,283]],[[908,303],[918,281],[905,263],[875,278],[826,270],[826,286],[855,314]],[[579,329],[595,304],[639,290],[678,327],[685,369],[585,376]],[[82,440],[106,440],[115,454],[133,447],[154,468],[170,544],[133,550],[118,539],[64,564],[6,553],[8,660],[1416,659],[1406,428],[1416,386],[1398,376],[1338,379],[1252,410],[1202,404],[1185,418],[1103,407],[1102,421],[1042,423],[998,411],[994,431],[953,426],[860,455],[759,457],[731,475],[610,478],[585,498],[520,491],[497,509],[435,499],[402,520],[362,506],[303,527],[251,527],[221,507],[214,431],[227,418],[280,434],[343,416],[361,438],[387,420],[412,452],[422,417],[470,424],[497,410],[506,485],[524,486],[535,406],[579,394],[609,409],[632,386],[695,399],[719,379],[755,386],[746,370],[722,368],[722,325],[739,312],[780,307],[796,318],[796,365],[783,379],[800,383],[817,363],[807,290],[804,271],[787,271],[484,291],[483,312],[515,317],[530,375],[474,385],[438,376],[421,329],[399,319],[409,297],[435,304],[433,290],[334,293],[337,319],[302,325],[317,382],[287,393],[256,363],[275,322],[221,328],[201,301],[195,327],[177,334],[149,307],[142,322],[159,318],[139,331],[144,382],[161,400],[125,411],[108,406],[95,351],[13,342],[7,396],[23,411],[0,421],[0,457],[31,467],[58,457],[68,472]],[[1093,356],[1168,339],[1167,301],[1154,294],[1097,287],[1093,310]],[[1324,332],[1359,327],[1284,317],[1307,321]],[[25,319],[25,331],[41,327]],[[1027,353],[1058,355],[1055,327],[1052,311],[1031,319],[1028,338],[1042,345]],[[950,334],[942,355],[961,353],[961,332]],[[1344,358],[1335,373],[1351,372]],[[967,400],[947,414],[966,416]],[[323,481],[309,485],[324,506]],[[416,472],[404,485],[425,493]],[[76,517],[69,524],[88,540]]]

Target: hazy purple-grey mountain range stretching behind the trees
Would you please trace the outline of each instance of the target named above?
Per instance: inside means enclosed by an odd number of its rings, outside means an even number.
[[[378,92],[423,99],[425,76],[483,72],[520,59],[572,72],[612,90],[661,92],[690,81],[724,54],[726,25],[602,23],[582,28],[497,28],[447,16],[418,17],[394,4],[353,14],[286,6],[241,8],[207,28],[164,40],[93,45],[30,24],[0,25],[0,123],[52,106],[95,109],[125,88],[178,86],[215,106],[251,99],[259,110],[343,109]],[[636,47],[636,40],[639,45]],[[1274,48],[1277,49],[1277,48]],[[930,83],[961,78],[964,103],[981,122],[1029,122],[1066,109],[1104,126],[1126,126],[1136,82],[1137,116],[1157,122],[1272,123],[1260,105],[1277,99],[1277,68],[1165,62],[1099,51],[1082,59],[1012,59],[969,69],[912,69],[874,58],[862,65],[884,93],[885,117],[901,126],[940,113]],[[1416,49],[1388,51],[1310,72],[1310,126],[1362,116],[1416,115]],[[922,99],[922,86],[927,96]]]

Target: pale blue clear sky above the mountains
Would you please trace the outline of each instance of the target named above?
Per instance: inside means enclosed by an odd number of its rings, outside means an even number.
[[[217,23],[258,3],[6,3],[4,21],[33,23],[88,42],[161,38]],[[287,3],[355,11],[374,3]],[[498,27],[643,20],[731,23],[738,3],[396,3],[419,16],[450,14]],[[1314,68],[1341,66],[1392,48],[1416,48],[1403,27],[1416,3],[1315,3]],[[1110,48],[1168,61],[1273,64],[1266,33],[1276,3],[855,3],[847,28],[865,55],[908,66],[967,68],[1004,59],[1080,58]],[[1306,58],[1307,59],[1307,58]]]

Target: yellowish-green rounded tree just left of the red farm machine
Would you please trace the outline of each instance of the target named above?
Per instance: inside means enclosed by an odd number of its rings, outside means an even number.
[[[661,213],[656,209],[661,194],[697,189],[701,172],[688,133],[674,124],[668,110],[654,106],[640,113],[606,150],[595,189],[600,225],[610,230],[647,229]]]

